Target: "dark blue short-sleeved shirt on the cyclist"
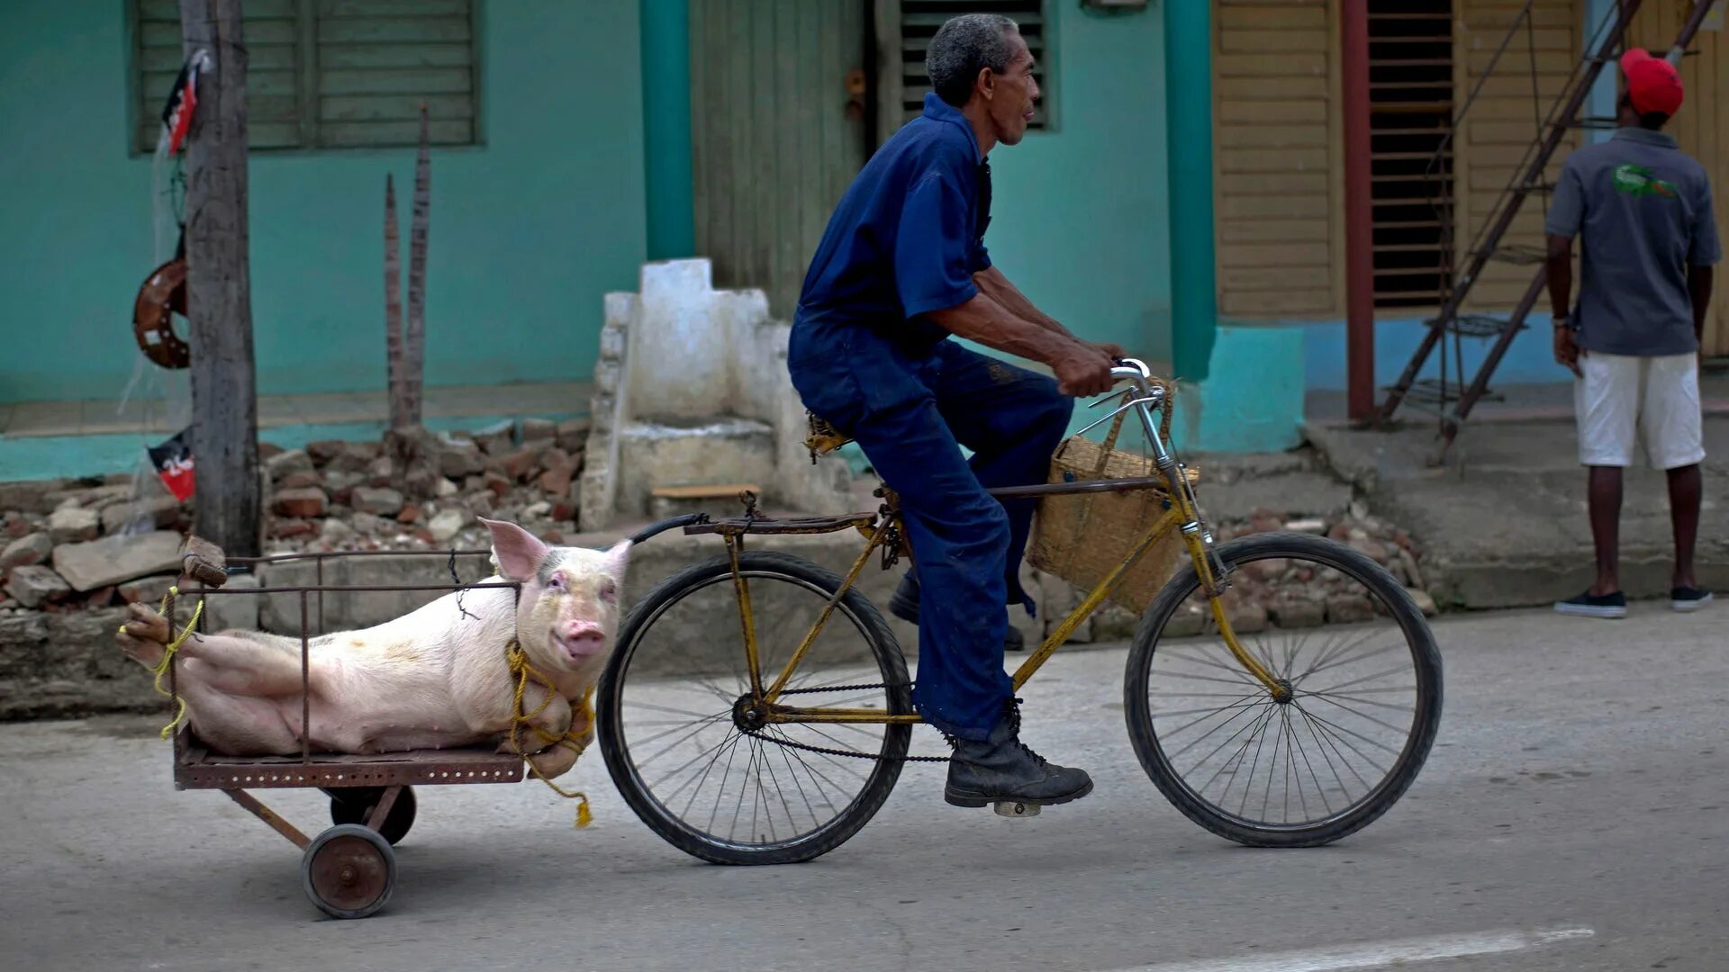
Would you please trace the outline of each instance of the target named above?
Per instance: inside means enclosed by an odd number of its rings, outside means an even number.
[[[991,168],[960,109],[934,93],[840,197],[811,258],[799,318],[858,322],[906,346],[947,336],[923,318],[970,301],[991,266]]]

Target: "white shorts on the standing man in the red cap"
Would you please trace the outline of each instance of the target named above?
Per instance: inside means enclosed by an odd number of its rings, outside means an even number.
[[[1651,469],[1679,469],[1705,458],[1698,355],[1605,355],[1580,351],[1573,379],[1582,465],[1632,465],[1634,438],[1644,439]]]

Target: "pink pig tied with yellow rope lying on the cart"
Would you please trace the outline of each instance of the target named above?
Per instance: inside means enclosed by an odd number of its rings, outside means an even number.
[[[610,550],[548,547],[526,529],[486,521],[498,576],[522,585],[451,592],[412,614],[361,631],[313,638],[308,647],[309,739],[325,752],[394,752],[500,742],[508,752],[515,678],[505,647],[515,636],[529,664],[557,694],[533,725],[553,735],[571,725],[600,678],[617,630],[619,586],[631,541]],[[246,597],[246,595],[233,595]],[[131,605],[118,640],[145,668],[163,659],[168,621]],[[289,756],[301,751],[301,642],[258,631],[194,635],[178,652],[178,685],[197,737],[226,756]],[[529,680],[533,713],[546,697]],[[520,733],[524,752],[546,777],[576,763],[576,752]]]

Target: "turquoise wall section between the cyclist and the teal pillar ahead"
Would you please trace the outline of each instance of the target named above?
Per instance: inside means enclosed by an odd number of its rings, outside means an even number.
[[[1056,126],[991,152],[991,259],[1069,330],[1171,360],[1158,10],[1048,9]]]

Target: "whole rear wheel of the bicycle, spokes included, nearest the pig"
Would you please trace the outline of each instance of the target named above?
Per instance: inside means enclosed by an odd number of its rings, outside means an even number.
[[[768,687],[842,579],[771,552],[742,553],[738,572]],[[673,574],[631,609],[600,678],[600,751],[612,782],[655,834],[705,861],[780,865],[839,847],[889,797],[911,726],[759,725],[750,697],[728,560]],[[835,604],[780,702],[913,713],[901,647],[856,590]]]

